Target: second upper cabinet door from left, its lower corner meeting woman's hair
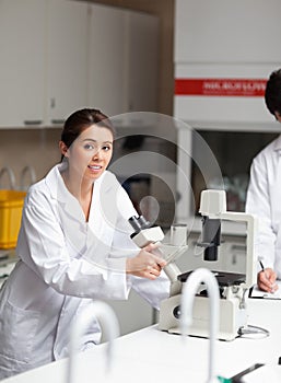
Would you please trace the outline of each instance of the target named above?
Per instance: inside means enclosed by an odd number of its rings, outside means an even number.
[[[87,4],[48,0],[47,124],[86,104]]]

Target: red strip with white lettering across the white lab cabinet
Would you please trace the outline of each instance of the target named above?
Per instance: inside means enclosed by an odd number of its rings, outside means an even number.
[[[264,79],[176,79],[175,95],[264,97]]]

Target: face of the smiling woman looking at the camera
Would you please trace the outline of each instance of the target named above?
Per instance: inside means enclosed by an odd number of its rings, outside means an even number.
[[[113,155],[113,134],[109,129],[92,125],[71,144],[65,155],[69,170],[89,181],[98,178]]]

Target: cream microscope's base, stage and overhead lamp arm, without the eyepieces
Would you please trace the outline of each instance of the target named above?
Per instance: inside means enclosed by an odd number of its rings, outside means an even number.
[[[218,259],[221,244],[222,220],[246,223],[246,272],[224,272],[212,270],[220,288],[220,327],[218,337],[221,340],[233,340],[247,326],[246,292],[256,283],[256,254],[254,239],[257,230],[257,219],[244,212],[226,211],[224,190],[207,189],[201,193],[200,209],[202,216],[202,241],[198,243],[204,248],[204,260]],[[186,282],[189,274],[178,274],[177,280]],[[209,299],[204,286],[200,286],[195,298],[192,325],[189,335],[208,337]],[[180,286],[171,292],[169,298],[161,302],[159,329],[172,334],[180,334]]]

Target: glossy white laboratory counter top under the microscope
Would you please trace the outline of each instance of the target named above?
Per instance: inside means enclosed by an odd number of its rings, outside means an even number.
[[[249,299],[249,325],[265,327],[265,338],[216,341],[215,372],[231,378],[256,362],[276,365],[281,357],[281,300]],[[105,347],[79,355],[80,382],[207,381],[209,340],[180,337],[151,326],[115,340],[114,364],[105,374]],[[3,383],[66,382],[67,359],[2,381]]]

